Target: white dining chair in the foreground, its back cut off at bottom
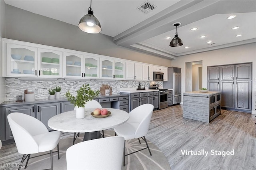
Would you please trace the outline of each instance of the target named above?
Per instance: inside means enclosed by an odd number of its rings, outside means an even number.
[[[121,170],[124,138],[87,140],[66,151],[67,170]]]

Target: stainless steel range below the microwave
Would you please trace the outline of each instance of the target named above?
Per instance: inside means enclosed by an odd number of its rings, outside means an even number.
[[[159,89],[158,84],[149,85],[148,89]],[[168,107],[168,89],[159,89],[159,109]]]

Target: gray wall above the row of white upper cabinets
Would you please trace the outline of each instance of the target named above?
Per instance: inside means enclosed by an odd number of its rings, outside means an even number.
[[[112,37],[88,34],[78,26],[34,14],[6,4],[6,35],[4,38],[85,51],[162,66],[171,60],[116,45]]]

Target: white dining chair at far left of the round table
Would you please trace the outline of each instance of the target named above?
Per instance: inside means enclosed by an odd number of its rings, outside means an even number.
[[[60,132],[49,132],[46,126],[38,119],[23,113],[10,113],[7,116],[8,123],[12,130],[15,144],[18,152],[23,154],[21,163],[27,159],[25,168],[27,167],[30,154],[46,152],[50,150],[50,161],[52,170],[52,150],[57,146],[58,159]],[[20,167],[19,167],[20,170]]]

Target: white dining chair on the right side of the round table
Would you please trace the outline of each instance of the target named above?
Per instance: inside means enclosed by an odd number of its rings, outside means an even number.
[[[150,124],[151,116],[153,113],[154,106],[151,104],[144,104],[136,107],[129,113],[129,119],[126,123],[119,125],[117,127],[114,127],[114,130],[118,136],[124,137],[125,140],[130,140],[134,138],[138,138],[140,142],[140,137],[146,143],[146,148],[148,148],[148,151],[150,152],[150,148],[148,147],[148,142],[145,138],[145,135],[148,132],[148,127]],[[139,152],[141,150],[144,150],[146,148],[142,148],[140,150],[137,150],[135,152]],[[124,142],[124,166],[125,166],[125,156],[133,154],[135,152],[125,154],[125,142]]]

